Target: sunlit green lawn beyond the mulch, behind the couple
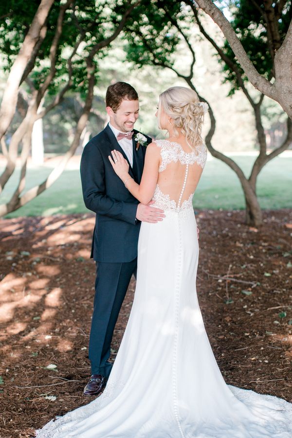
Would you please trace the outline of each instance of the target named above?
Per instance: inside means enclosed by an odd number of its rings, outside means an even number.
[[[234,156],[245,174],[255,160],[254,156]],[[43,181],[52,169],[49,167],[30,168],[26,189]],[[1,171],[1,169],[0,169]],[[0,202],[8,201],[13,192],[19,173],[5,186]],[[263,209],[292,208],[292,157],[281,156],[272,160],[258,177],[257,194]],[[224,163],[214,158],[207,161],[201,181],[194,196],[194,207],[198,209],[243,209],[244,198],[236,174]],[[65,170],[60,178],[36,199],[7,215],[49,216],[58,213],[85,213],[78,169]]]

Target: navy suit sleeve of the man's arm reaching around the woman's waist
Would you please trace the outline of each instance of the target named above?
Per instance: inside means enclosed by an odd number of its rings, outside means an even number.
[[[133,225],[136,223],[138,204],[117,201],[105,194],[104,162],[99,149],[94,144],[89,143],[84,147],[80,174],[83,199],[89,210]]]

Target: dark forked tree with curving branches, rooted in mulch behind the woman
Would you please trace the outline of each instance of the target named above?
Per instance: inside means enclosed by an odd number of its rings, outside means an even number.
[[[157,10],[155,9],[155,6],[157,7]],[[129,20],[126,27],[127,38],[129,39],[128,58],[134,60],[135,63],[137,63],[140,67],[145,63],[150,63],[152,65],[169,68],[179,77],[183,78],[189,87],[197,91],[193,82],[196,55],[192,46],[192,35],[190,32],[192,23],[194,21],[196,22],[201,34],[212,44],[222,62],[226,75],[225,79],[229,80],[232,85],[231,93],[234,92],[235,89],[242,90],[254,111],[259,144],[259,155],[256,158],[249,178],[245,177],[242,169],[234,160],[213,147],[212,137],[216,128],[216,120],[209,102],[208,105],[211,128],[206,136],[206,146],[209,152],[215,158],[223,161],[237,174],[246,202],[246,222],[248,224],[258,226],[262,222],[262,213],[256,197],[256,179],[263,166],[283,150],[285,150],[291,143],[291,120],[288,118],[288,133],[282,145],[275,148],[270,154],[267,154],[266,139],[261,122],[260,111],[264,94],[261,93],[256,100],[252,97],[247,87],[248,78],[245,76],[244,71],[240,68],[240,65],[235,60],[234,54],[229,45],[225,44],[225,46],[222,48],[214,41],[212,37],[210,37],[202,25],[201,18],[192,1],[189,1],[188,8],[185,7],[183,3],[179,4],[175,1],[168,1],[167,4],[164,1],[158,1],[155,2],[155,6],[152,5],[151,9],[146,9],[145,7],[142,9],[141,6],[140,19]],[[261,35],[260,37],[256,36],[257,27],[255,28],[253,24],[258,26],[260,20],[258,14],[256,14],[255,18],[253,18],[253,14],[251,14],[251,12],[253,12],[253,8],[246,7],[246,5],[243,9],[238,8],[238,15],[235,14],[233,25],[236,28],[240,27],[243,39],[242,43],[249,47],[249,55],[257,59],[257,63],[260,64],[261,71],[270,77],[272,70],[272,59],[269,63],[266,57],[264,57],[264,60],[262,60],[261,63],[258,62],[258,58],[260,57],[258,46],[261,46],[260,50],[265,54],[267,51],[267,42],[265,42],[267,37],[266,35]],[[240,26],[238,25],[239,20]],[[141,26],[140,23],[144,23],[144,25]],[[252,25],[250,26],[251,23]],[[285,20],[283,20],[282,35],[285,33],[285,25]],[[249,27],[253,29],[255,28],[255,31],[249,31]],[[288,26],[286,25],[286,29],[287,28]],[[185,73],[185,68],[183,70],[174,68],[174,62],[171,54],[177,49],[178,35],[181,36],[181,39],[184,41],[191,56],[189,73]],[[251,40],[254,42],[254,45],[251,45]],[[267,39],[267,41],[269,44],[269,39]],[[201,100],[206,101],[203,97],[200,96],[200,98]]]

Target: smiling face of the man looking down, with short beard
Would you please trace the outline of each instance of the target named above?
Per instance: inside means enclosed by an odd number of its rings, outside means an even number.
[[[121,132],[130,132],[139,116],[139,100],[122,100],[119,108],[114,112],[107,107],[110,124]]]

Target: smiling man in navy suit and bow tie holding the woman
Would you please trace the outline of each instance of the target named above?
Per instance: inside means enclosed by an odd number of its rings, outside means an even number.
[[[132,274],[137,271],[137,245],[141,221],[157,222],[163,211],[139,203],[114,173],[111,150],[120,151],[129,163],[129,174],[141,182],[146,147],[135,140],[139,114],[135,89],[117,82],[107,90],[110,123],[84,147],[81,182],[85,205],[96,213],[91,257],[96,263],[95,296],[89,358],[91,378],[84,395],[101,392],[110,375],[110,343]],[[141,134],[140,134],[141,137]],[[146,145],[151,143],[146,136]]]

